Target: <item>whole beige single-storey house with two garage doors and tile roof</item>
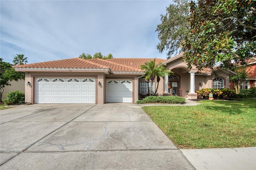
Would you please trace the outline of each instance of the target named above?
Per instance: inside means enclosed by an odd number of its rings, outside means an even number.
[[[147,83],[142,79],[140,65],[149,58],[63,59],[14,66],[25,72],[25,102],[31,103],[96,103],[132,102],[144,96]],[[182,53],[156,63],[173,71],[162,77],[158,95],[188,95],[196,99],[201,88],[228,88],[231,71],[188,70]],[[151,85],[151,83],[150,83]],[[152,84],[156,88],[156,83]],[[168,88],[171,87],[171,88]],[[188,91],[188,93],[186,93]]]

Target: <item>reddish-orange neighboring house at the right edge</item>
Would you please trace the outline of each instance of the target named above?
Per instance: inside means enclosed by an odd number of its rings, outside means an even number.
[[[254,56],[256,58],[256,56]],[[246,60],[246,72],[249,73],[248,78],[242,80],[241,89],[250,89],[251,87],[256,87],[256,60],[247,59]],[[234,89],[233,83],[230,83],[230,89]]]

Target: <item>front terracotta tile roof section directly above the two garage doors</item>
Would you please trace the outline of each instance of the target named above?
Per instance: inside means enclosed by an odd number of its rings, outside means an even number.
[[[14,65],[17,71],[24,70],[88,70],[88,71],[109,71],[114,73],[142,73],[140,68],[124,65],[122,62],[116,63],[111,60],[104,59],[62,59],[56,61],[46,61],[41,63],[32,63],[24,65]]]

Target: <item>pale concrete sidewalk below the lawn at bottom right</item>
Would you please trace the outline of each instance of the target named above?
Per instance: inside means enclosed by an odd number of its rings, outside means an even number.
[[[256,147],[181,149],[197,170],[256,170]]]

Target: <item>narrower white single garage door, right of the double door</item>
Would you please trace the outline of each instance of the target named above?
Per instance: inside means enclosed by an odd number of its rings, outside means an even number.
[[[132,102],[132,80],[106,79],[106,102]]]

